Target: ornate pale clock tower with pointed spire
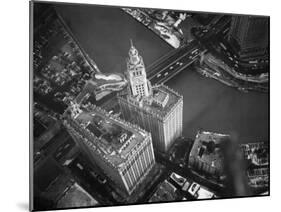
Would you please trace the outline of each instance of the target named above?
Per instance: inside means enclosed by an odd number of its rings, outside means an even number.
[[[138,50],[131,40],[129,57],[127,58],[127,78],[129,81],[129,93],[132,97],[148,97],[151,94],[151,86],[146,78],[145,66]]]

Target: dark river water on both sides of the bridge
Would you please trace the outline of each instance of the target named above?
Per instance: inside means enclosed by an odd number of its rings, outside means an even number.
[[[172,47],[118,8],[57,5],[81,46],[102,72],[123,72],[130,39],[146,65]],[[184,97],[184,135],[197,130],[232,133],[242,143],[268,140],[269,95],[242,93],[213,79],[186,69],[167,85]]]

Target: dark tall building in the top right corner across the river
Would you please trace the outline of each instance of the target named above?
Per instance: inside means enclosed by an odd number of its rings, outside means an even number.
[[[269,18],[233,16],[228,39],[242,60],[266,58],[269,47]]]

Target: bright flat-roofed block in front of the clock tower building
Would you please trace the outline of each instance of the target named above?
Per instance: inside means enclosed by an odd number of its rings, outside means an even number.
[[[73,103],[64,125],[93,164],[127,194],[155,164],[150,133],[93,105]]]

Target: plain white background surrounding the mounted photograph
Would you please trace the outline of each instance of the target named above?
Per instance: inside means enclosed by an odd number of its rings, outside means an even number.
[[[60,0],[58,0],[60,1]],[[280,7],[268,0],[67,0],[271,16],[271,197],[81,209],[76,211],[278,211],[280,199]],[[62,1],[63,2],[63,1]],[[29,11],[27,0],[1,2],[1,211],[28,210]],[[4,47],[4,48],[3,48]],[[71,210],[74,211],[74,210]]]

